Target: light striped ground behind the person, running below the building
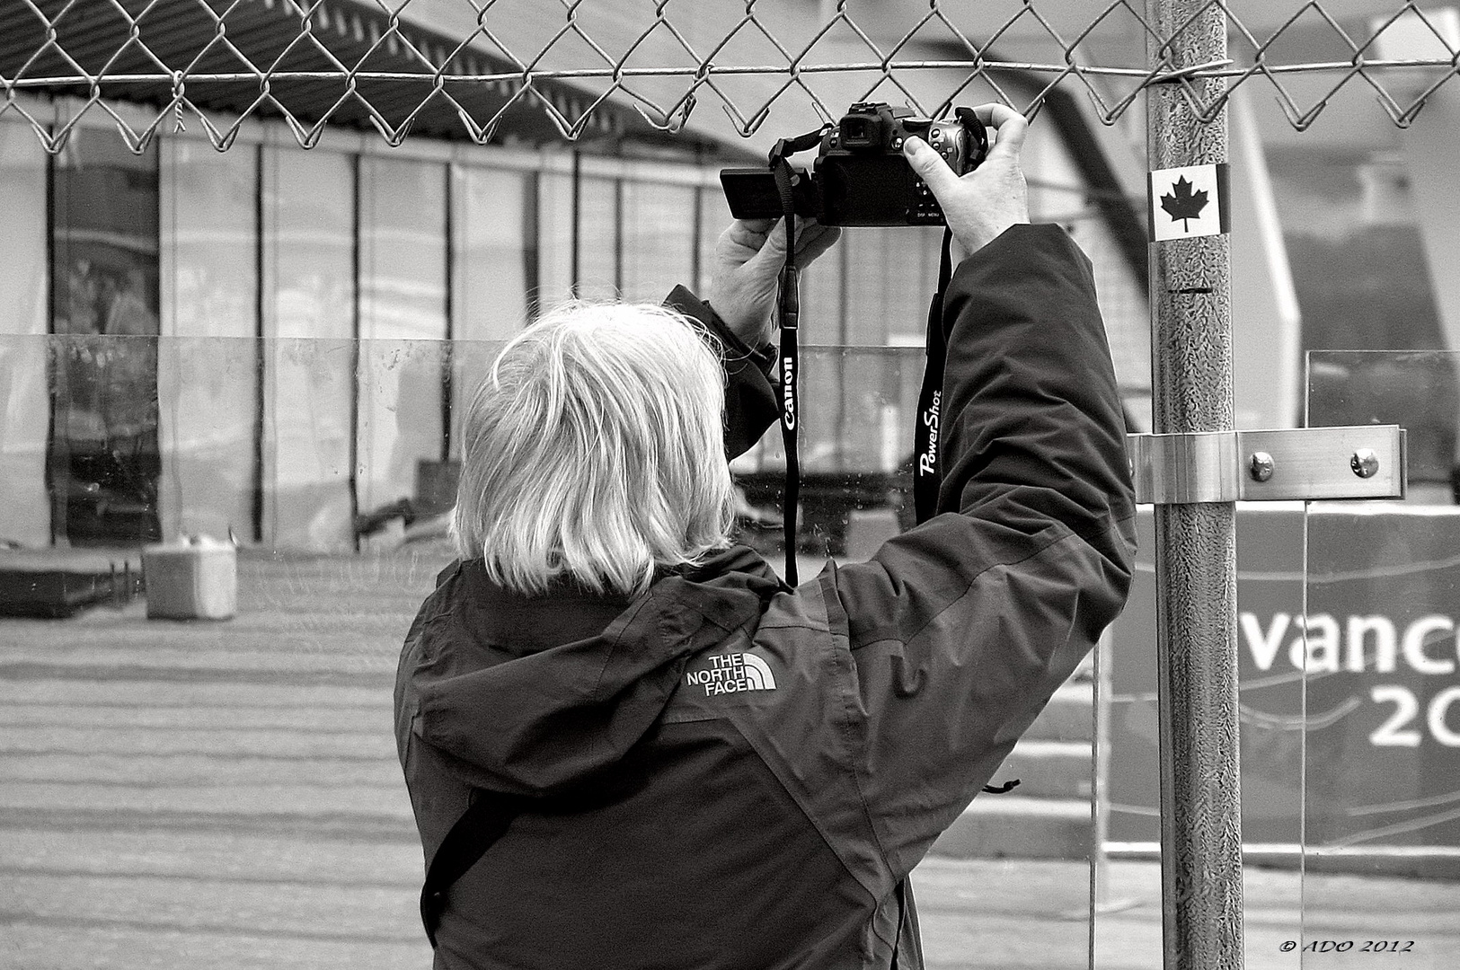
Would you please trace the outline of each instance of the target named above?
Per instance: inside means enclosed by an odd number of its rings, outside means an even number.
[[[0,967],[429,967],[390,687],[444,562],[245,554],[226,623],[0,620]],[[1095,966],[1161,967],[1158,866],[1101,884]],[[914,888],[930,967],[1089,966],[1085,864],[930,858]],[[1245,899],[1251,969],[1460,966],[1457,884],[1248,869]]]

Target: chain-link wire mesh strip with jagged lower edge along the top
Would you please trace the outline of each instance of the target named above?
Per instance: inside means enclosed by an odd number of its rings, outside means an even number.
[[[1229,58],[1180,63],[1213,12]],[[486,143],[529,115],[569,140],[679,133],[712,102],[750,137],[772,108],[996,98],[1034,115],[1061,86],[1105,124],[1156,85],[1212,121],[1260,82],[1298,130],[1355,85],[1405,127],[1460,74],[1457,35],[1453,7],[1388,0],[1212,0],[1167,36],[1139,0],[0,0],[0,117],[50,152],[92,111],[134,152],[193,123],[223,150],[254,117],[304,147],[342,123]]]

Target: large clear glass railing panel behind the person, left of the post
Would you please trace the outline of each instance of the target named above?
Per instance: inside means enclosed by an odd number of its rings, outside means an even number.
[[[0,337],[0,869],[18,952],[429,961],[391,684],[453,559],[461,416],[498,350]],[[803,352],[803,582],[911,524],[921,369],[918,349]],[[781,569],[778,432],[733,471],[739,538]],[[237,544],[232,618],[147,618],[140,550],[180,537]],[[930,966],[1009,966],[1034,941],[1038,966],[1089,964],[1094,707],[1080,671],[1000,769],[1019,789],[975,799],[917,869]],[[1139,935],[1158,931],[1142,913]]]

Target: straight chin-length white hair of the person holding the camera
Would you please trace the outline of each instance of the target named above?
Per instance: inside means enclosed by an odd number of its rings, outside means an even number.
[[[724,370],[651,303],[566,303],[512,338],[463,427],[451,534],[493,582],[639,594],[730,544]]]

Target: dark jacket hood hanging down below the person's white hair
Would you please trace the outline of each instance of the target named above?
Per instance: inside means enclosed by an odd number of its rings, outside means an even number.
[[[780,591],[790,586],[745,546],[637,598],[571,586],[523,597],[492,583],[480,560],[454,563],[416,624],[413,731],[474,769],[479,786],[561,792],[618,763],[688,658],[749,626]]]

